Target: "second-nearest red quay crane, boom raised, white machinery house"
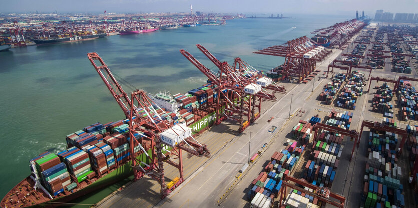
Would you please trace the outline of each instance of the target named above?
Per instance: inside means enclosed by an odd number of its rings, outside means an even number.
[[[276,100],[273,93],[263,92],[260,85],[244,79],[227,62],[222,62],[218,72],[215,73],[186,50],[181,49],[180,52],[205,74],[213,84],[218,85],[217,124],[225,118],[230,118],[239,122],[239,132],[242,132],[260,116],[262,98]],[[221,97],[225,99],[225,104],[224,101],[221,101]],[[225,106],[221,112],[223,104]],[[255,113],[255,108],[257,108],[257,113]],[[247,118],[246,121],[243,119],[244,116]]]

